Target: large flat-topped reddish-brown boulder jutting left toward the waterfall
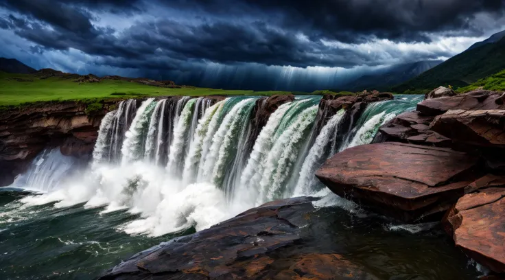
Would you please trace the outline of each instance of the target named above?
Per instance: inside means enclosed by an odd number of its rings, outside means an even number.
[[[476,176],[469,172],[476,163],[450,149],[376,143],[336,154],[316,176],[339,196],[411,221],[449,209]]]

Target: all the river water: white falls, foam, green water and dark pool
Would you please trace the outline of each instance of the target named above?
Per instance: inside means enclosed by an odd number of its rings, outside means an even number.
[[[90,279],[264,202],[321,196],[320,220],[309,229],[321,246],[344,247],[385,279],[475,279],[438,225],[392,224],[314,177],[329,156],[370,143],[381,124],[420,100],[371,104],[346,131],[340,111],[318,131],[320,97],[296,97],[259,134],[250,121],[259,97],[121,102],[102,119],[91,163],[48,149],[0,188],[1,278]]]

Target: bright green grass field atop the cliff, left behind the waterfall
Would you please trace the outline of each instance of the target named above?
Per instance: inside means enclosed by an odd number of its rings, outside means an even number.
[[[274,95],[289,93],[287,91],[234,91],[196,87],[169,89],[123,80],[102,80],[102,82],[78,84],[72,80],[58,77],[41,80],[36,75],[0,72],[0,108],[44,101],[76,100],[93,103],[115,98],[148,96]]]

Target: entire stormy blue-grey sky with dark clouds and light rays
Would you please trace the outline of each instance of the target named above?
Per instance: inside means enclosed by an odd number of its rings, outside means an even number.
[[[447,59],[505,0],[0,0],[0,56],[36,69],[314,90]]]

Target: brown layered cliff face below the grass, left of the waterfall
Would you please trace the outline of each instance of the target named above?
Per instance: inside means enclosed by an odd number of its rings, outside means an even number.
[[[0,112],[0,186],[10,185],[45,148],[91,156],[100,121],[116,103],[41,102]]]

